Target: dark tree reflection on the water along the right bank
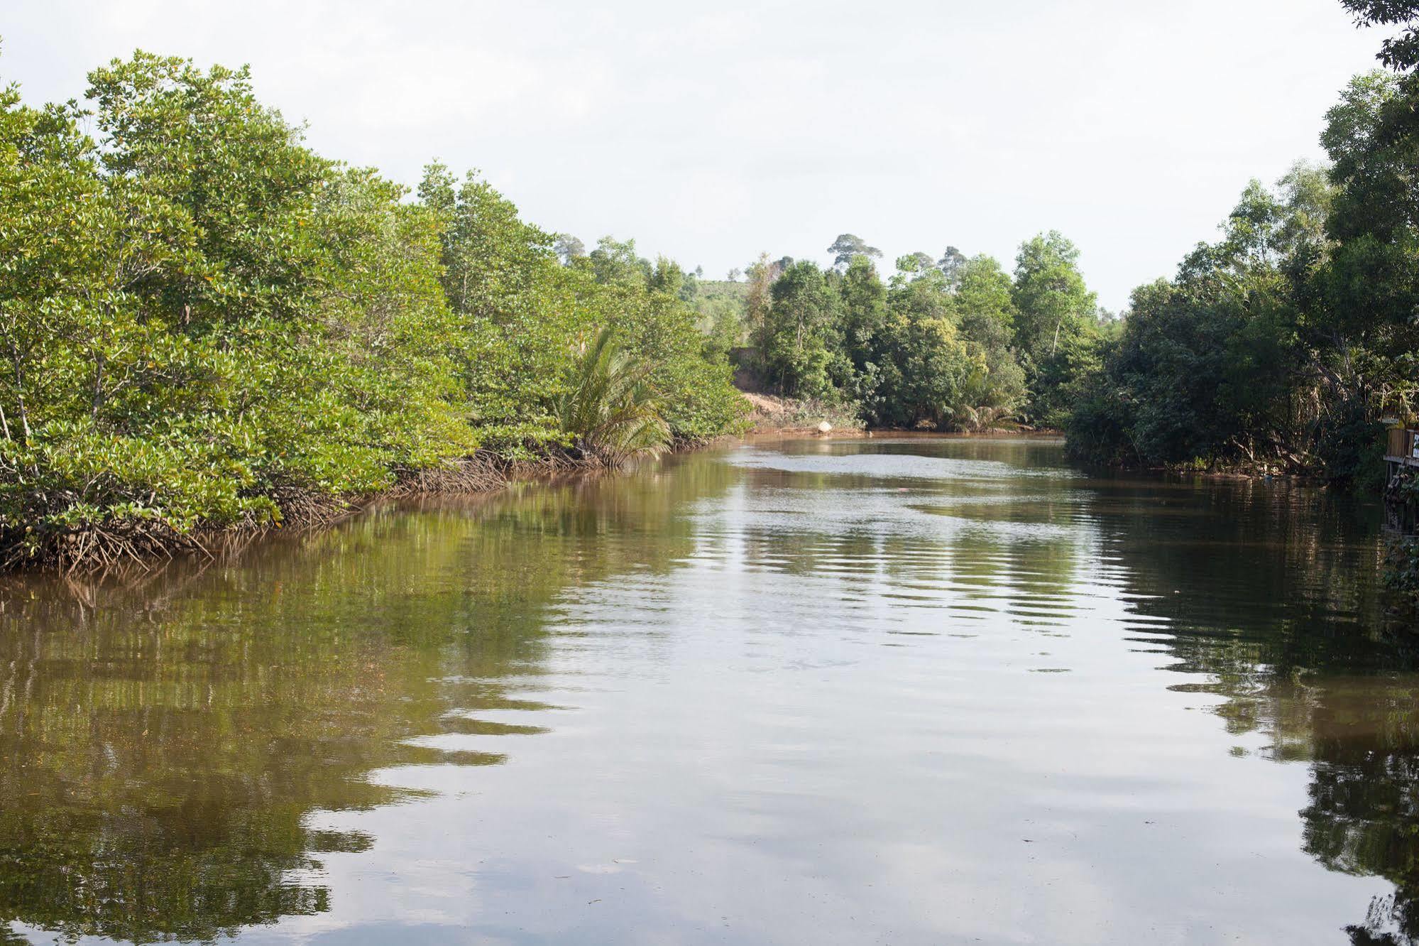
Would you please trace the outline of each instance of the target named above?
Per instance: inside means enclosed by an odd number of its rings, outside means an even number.
[[[1174,689],[1223,696],[1230,733],[1264,733],[1266,756],[1308,764],[1308,855],[1395,885],[1347,928],[1351,942],[1419,943],[1419,638],[1375,588],[1375,510],[1236,483],[1179,504],[1209,514],[1169,527],[1149,490],[1100,496],[1132,589],[1148,595],[1139,614],[1176,635],[1171,669],[1208,678]]]

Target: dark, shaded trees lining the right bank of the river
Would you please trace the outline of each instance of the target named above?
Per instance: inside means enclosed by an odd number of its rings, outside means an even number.
[[[1416,3],[1345,0],[1402,24],[1325,115],[1330,162],[1243,192],[1222,239],[1134,291],[1069,420],[1076,455],[1242,466],[1378,490],[1382,418],[1413,416],[1419,351]]]

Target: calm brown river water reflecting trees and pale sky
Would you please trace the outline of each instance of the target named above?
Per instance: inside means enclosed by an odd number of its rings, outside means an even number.
[[[1412,943],[1379,510],[735,445],[0,585],[0,943]]]

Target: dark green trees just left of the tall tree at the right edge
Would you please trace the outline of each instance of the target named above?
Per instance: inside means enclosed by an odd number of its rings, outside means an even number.
[[[1134,291],[1070,416],[1076,455],[1149,466],[1311,462],[1321,418],[1304,388],[1320,375],[1300,344],[1291,274],[1323,240],[1327,199],[1310,168],[1283,178],[1279,193],[1253,182],[1220,241],[1195,249],[1174,281]]]

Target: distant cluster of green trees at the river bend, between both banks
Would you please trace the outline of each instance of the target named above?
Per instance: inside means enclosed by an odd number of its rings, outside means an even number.
[[[1059,233],[1022,244],[1013,278],[948,247],[902,256],[884,284],[860,237],[829,251],[826,271],[790,257],[746,270],[748,339],[779,393],[854,403],[887,428],[1057,426],[1098,361],[1108,315]]]

